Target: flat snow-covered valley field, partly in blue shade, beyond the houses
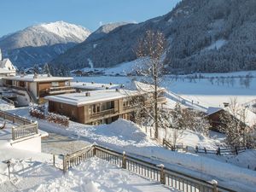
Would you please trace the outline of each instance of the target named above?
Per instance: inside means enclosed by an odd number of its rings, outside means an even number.
[[[202,73],[201,75],[209,77],[231,77],[236,78],[234,85],[227,83],[213,84],[209,79],[195,79],[190,82],[189,79],[183,79],[180,76],[177,80],[173,76],[166,76],[163,80],[162,86],[166,90],[172,91],[189,101],[201,104],[206,107],[223,107],[223,102],[230,102],[230,99],[236,97],[237,102],[245,103],[256,99],[256,79],[251,79],[249,88],[245,88],[240,84],[240,76],[247,75],[248,72],[237,73]],[[253,77],[256,77],[256,72],[252,73]],[[90,77],[74,77],[75,81],[84,82],[112,82],[113,84],[125,84],[126,87],[131,87],[131,81],[140,79],[140,77],[114,77],[114,76],[90,76]]]

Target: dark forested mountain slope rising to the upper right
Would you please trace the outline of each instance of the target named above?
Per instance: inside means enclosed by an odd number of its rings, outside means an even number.
[[[172,73],[256,69],[255,0],[183,0],[170,13],[138,24],[91,33],[83,43],[51,61],[70,69],[112,67],[137,58],[146,31],[163,32],[165,64]]]

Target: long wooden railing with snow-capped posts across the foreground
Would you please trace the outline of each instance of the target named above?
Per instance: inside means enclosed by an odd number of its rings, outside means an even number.
[[[215,192],[233,191],[217,185],[216,183],[205,181],[201,178],[191,177],[183,172],[177,172],[166,168],[164,165],[155,165],[146,160],[140,160],[125,153],[119,153],[109,148],[92,145],[83,148],[73,154],[63,156],[63,172],[79,163],[96,156],[109,163],[134,172],[137,175],[160,182],[167,187],[172,187],[184,192]]]

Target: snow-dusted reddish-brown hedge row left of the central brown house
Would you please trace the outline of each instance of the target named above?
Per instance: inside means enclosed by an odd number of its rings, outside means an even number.
[[[51,123],[60,124],[64,126],[69,125],[69,118],[64,115],[56,114],[56,113],[46,113],[42,112],[40,108],[32,107],[29,110],[29,113],[32,117],[36,117],[38,119],[45,119]]]

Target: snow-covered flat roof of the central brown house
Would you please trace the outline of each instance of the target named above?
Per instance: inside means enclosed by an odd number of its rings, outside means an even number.
[[[90,93],[90,96],[86,96]],[[45,96],[44,98],[52,102],[62,102],[73,106],[84,106],[96,102],[108,102],[127,96],[140,95],[137,90],[92,90],[81,93],[70,93],[57,96]]]

